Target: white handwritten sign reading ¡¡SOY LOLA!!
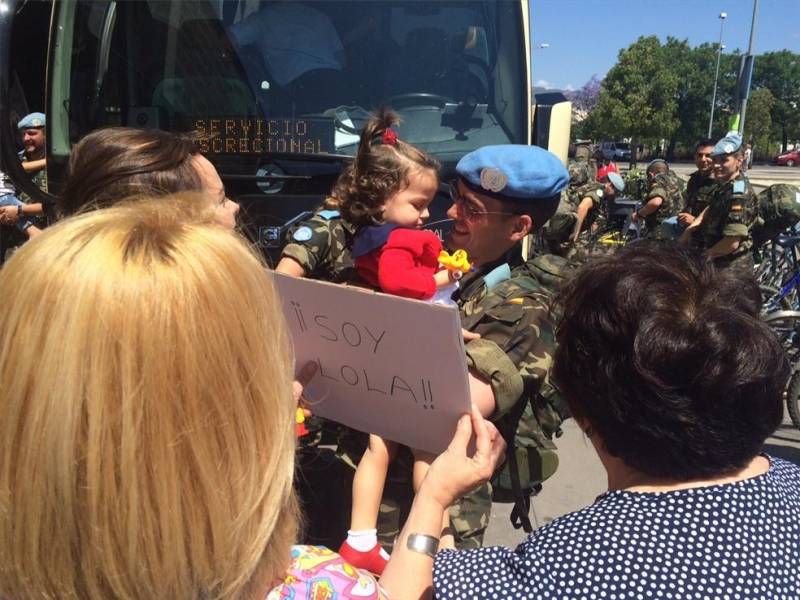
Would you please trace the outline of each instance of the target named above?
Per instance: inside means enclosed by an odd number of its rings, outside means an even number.
[[[361,288],[272,273],[313,413],[442,452],[469,412],[458,311]]]

